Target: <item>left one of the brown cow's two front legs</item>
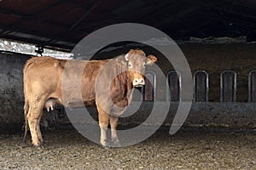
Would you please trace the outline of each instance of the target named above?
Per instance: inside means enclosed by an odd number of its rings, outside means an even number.
[[[106,111],[103,111],[99,105],[97,105],[97,111],[99,113],[99,125],[101,128],[101,144],[103,147],[107,147],[107,129],[109,124],[109,114]]]

